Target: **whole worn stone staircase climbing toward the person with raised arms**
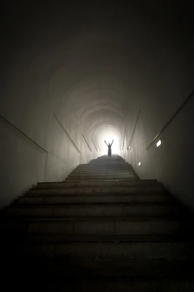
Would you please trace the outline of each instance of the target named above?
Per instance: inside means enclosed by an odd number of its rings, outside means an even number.
[[[1,213],[1,266],[29,289],[194,292],[193,214],[118,155],[38,183]]]

